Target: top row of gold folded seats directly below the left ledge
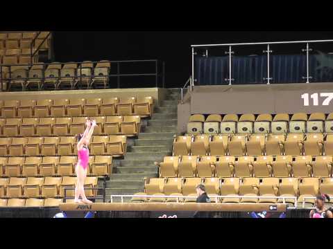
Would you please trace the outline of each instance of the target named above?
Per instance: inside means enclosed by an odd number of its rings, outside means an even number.
[[[73,100],[0,100],[3,118],[78,116],[151,116],[153,98],[76,98]]]

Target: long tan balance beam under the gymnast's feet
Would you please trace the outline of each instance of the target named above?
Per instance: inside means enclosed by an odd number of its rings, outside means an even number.
[[[283,203],[60,203],[62,211],[211,211],[286,212]]]

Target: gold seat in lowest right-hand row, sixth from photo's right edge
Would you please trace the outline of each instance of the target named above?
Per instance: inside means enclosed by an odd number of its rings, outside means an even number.
[[[223,203],[239,203],[239,178],[222,178],[221,179],[221,196]]]

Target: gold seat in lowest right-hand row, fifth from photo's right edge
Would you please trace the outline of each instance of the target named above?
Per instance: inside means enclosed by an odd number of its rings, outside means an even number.
[[[259,194],[259,178],[243,178],[239,185],[240,196],[258,196]],[[257,198],[242,197],[240,203],[257,203]]]

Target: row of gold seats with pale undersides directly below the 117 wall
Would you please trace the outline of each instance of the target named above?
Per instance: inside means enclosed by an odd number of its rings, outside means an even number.
[[[288,113],[243,114],[240,118],[236,114],[227,114],[223,118],[219,114],[212,114],[205,119],[202,114],[195,114],[189,118],[187,133],[332,133],[333,113],[295,113],[289,117]]]

